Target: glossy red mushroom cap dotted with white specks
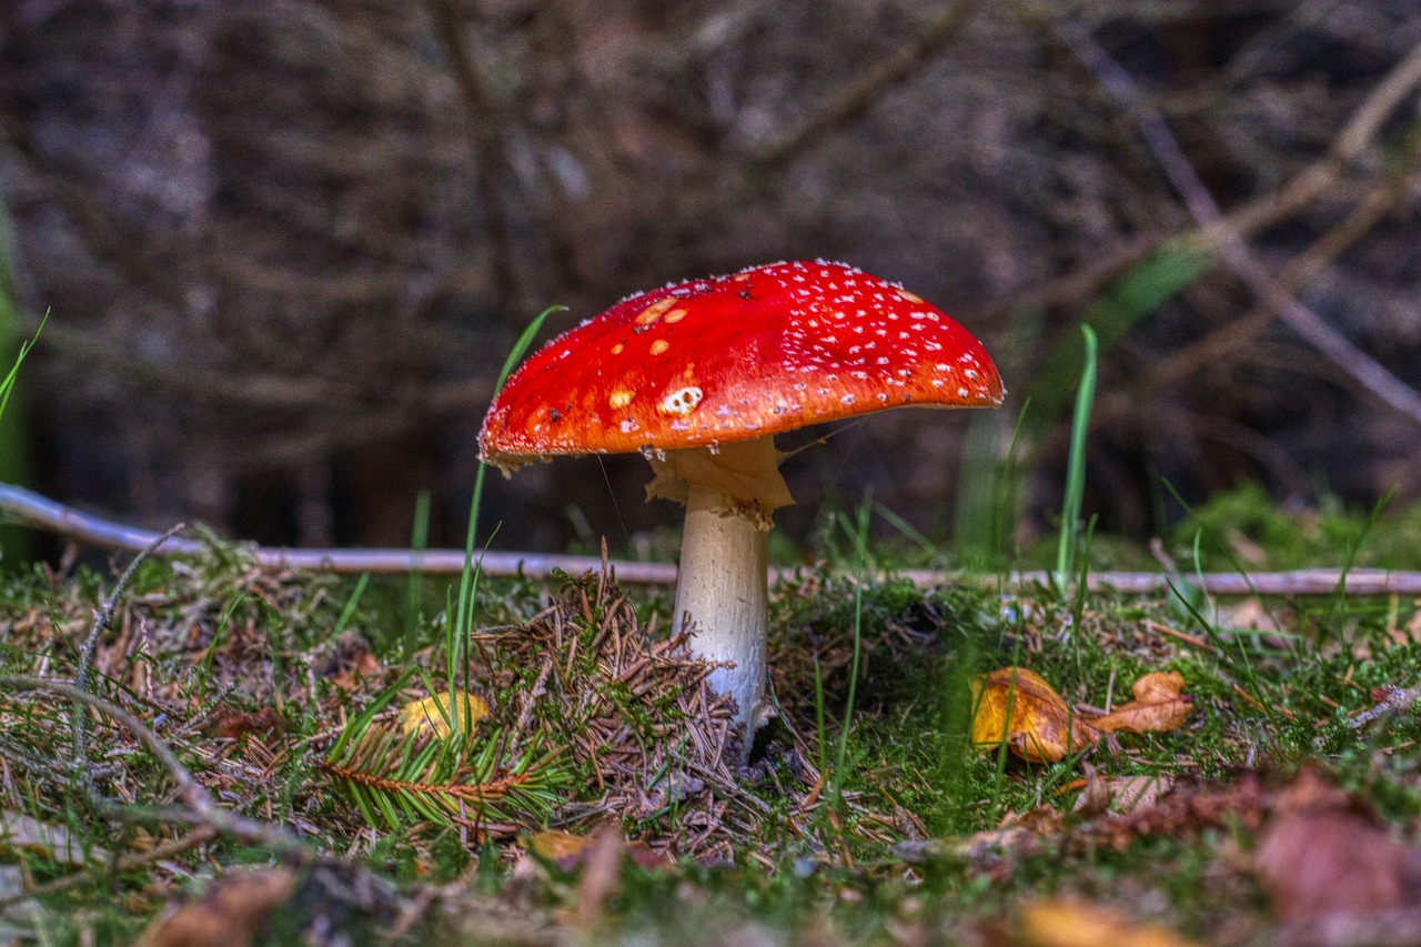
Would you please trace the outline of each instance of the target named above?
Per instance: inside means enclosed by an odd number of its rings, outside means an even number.
[[[908,290],[843,263],[773,263],[631,296],[513,373],[482,456],[672,451],[882,408],[996,407],[976,338]]]

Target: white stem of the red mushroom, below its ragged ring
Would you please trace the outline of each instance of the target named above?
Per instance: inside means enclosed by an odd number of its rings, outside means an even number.
[[[769,530],[728,510],[725,496],[708,486],[691,486],[686,528],[681,540],[675,628],[695,628],[696,654],[733,667],[715,668],[710,688],[729,694],[745,724],[742,752],[766,719],[764,634],[767,616]]]

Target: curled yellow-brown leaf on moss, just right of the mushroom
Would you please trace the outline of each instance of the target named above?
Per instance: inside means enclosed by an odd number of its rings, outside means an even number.
[[[972,683],[972,742],[1029,762],[1057,762],[1096,745],[1097,734],[1036,671],[1003,667]]]

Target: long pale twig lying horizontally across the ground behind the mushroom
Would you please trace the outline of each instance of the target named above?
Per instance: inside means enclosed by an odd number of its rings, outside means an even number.
[[[141,550],[158,533],[109,519],[81,513],[55,503],[13,483],[0,483],[0,518],[13,519],[33,529],[65,536],[75,542],[107,549]],[[203,545],[192,539],[173,537],[163,543],[162,555],[190,556]],[[244,546],[256,563],[264,569],[297,569],[310,572],[404,574],[419,570],[425,574],[459,574],[463,570],[462,549],[273,549]],[[601,556],[560,556],[534,552],[485,552],[480,569],[487,576],[549,577],[556,572],[580,576],[611,569],[617,580],[637,586],[672,586],[676,566],[668,562],[604,560]],[[770,580],[793,579],[797,567],[770,569]],[[928,589],[949,584],[1047,584],[1046,572],[968,573],[934,569],[904,569],[892,573]],[[1292,572],[1206,572],[1191,576],[1189,582],[1215,596],[1324,596],[1346,592],[1351,596],[1421,596],[1421,572],[1393,572],[1390,569],[1296,569]],[[1157,594],[1169,590],[1169,576],[1162,572],[1093,572],[1087,583],[1094,590],[1113,589],[1123,594]]]

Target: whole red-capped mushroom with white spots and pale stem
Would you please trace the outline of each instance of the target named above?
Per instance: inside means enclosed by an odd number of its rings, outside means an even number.
[[[509,472],[639,451],[648,498],[686,506],[675,628],[725,663],[710,687],[746,724],[764,695],[766,539],[793,502],[774,435],[902,405],[1002,404],[976,338],[908,290],[841,263],[773,263],[631,296],[513,373],[479,434]]]

